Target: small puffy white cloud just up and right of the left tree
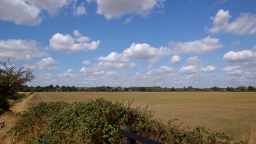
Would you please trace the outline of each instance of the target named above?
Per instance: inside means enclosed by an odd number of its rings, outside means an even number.
[[[49,70],[57,70],[56,67],[57,62],[52,57],[43,58],[41,61],[36,63],[36,66],[39,67],[40,70],[45,69],[46,67]]]

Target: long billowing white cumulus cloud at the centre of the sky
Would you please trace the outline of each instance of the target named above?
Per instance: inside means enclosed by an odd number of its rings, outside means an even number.
[[[171,50],[167,47],[155,48],[148,44],[133,43],[122,53],[112,52],[106,57],[98,57],[99,61],[107,62],[129,62],[137,59],[148,59],[149,63],[157,63],[161,57],[170,56]]]

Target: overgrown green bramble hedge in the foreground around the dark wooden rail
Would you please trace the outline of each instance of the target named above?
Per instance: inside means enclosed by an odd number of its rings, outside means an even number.
[[[206,128],[188,129],[177,119],[165,125],[152,117],[147,109],[104,99],[40,102],[23,113],[8,133],[14,143],[126,143],[119,128],[137,127],[139,135],[164,143],[235,143],[228,135],[213,134]]]

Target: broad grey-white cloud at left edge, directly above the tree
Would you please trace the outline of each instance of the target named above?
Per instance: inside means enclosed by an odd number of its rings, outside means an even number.
[[[0,58],[11,61],[26,62],[30,61],[32,57],[45,56],[45,52],[40,52],[38,43],[34,40],[0,40]]]

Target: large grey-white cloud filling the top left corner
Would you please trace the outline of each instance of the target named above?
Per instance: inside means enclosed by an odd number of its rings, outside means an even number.
[[[56,15],[60,8],[71,4],[72,1],[2,0],[0,1],[0,19],[14,22],[17,25],[36,26],[42,20],[42,10],[48,11],[50,15]]]

